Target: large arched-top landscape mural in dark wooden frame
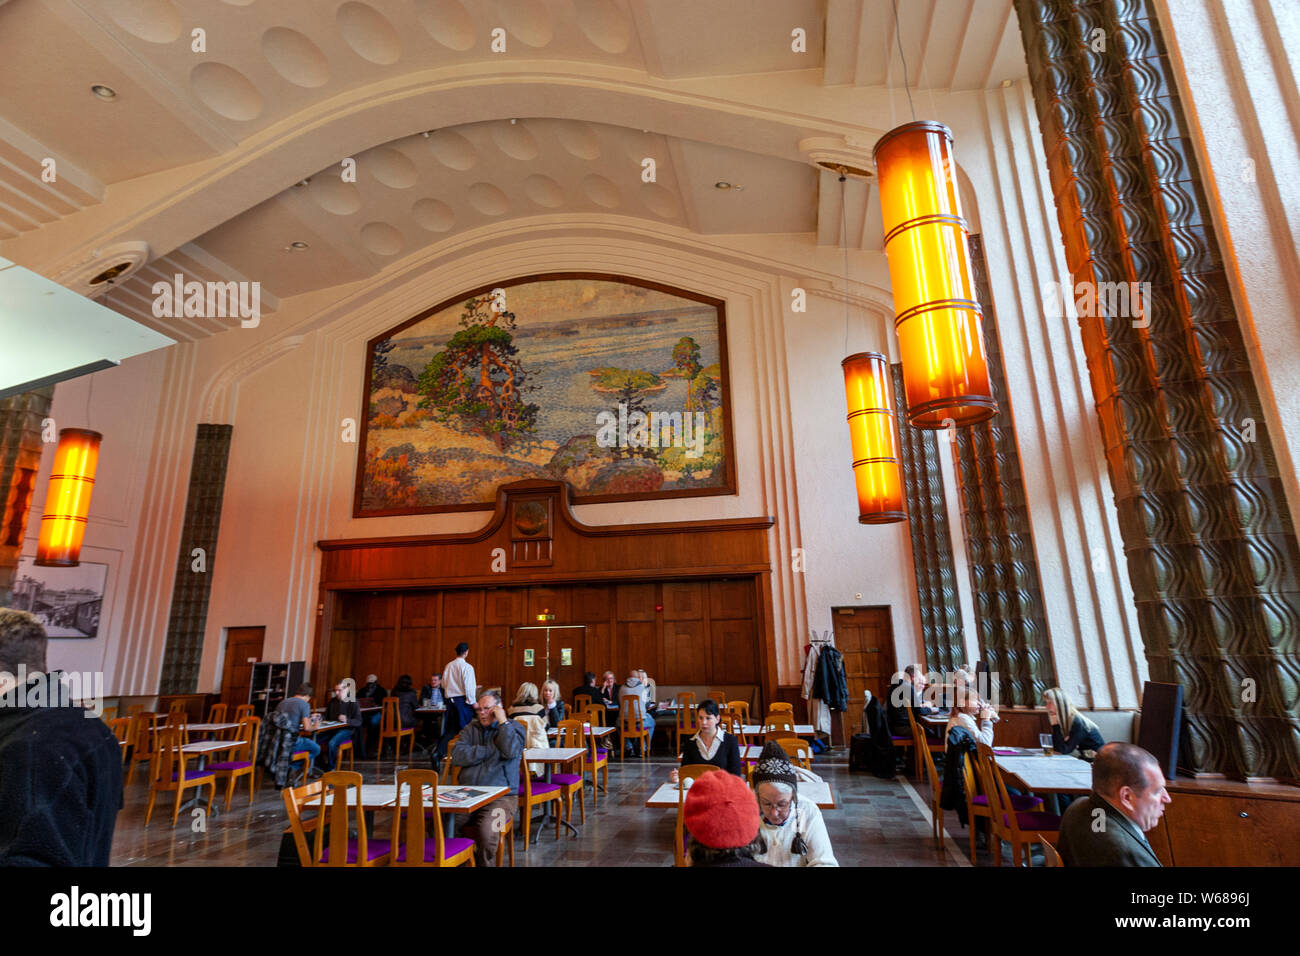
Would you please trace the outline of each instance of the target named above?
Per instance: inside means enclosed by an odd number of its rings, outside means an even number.
[[[577,505],[736,494],[725,303],[685,289],[472,289],[367,343],[363,402],[354,518],[490,511],[521,479],[568,481]]]

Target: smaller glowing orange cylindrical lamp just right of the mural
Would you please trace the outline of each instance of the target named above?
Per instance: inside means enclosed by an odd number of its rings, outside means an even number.
[[[853,481],[858,486],[858,522],[907,520],[894,434],[889,363],[880,352],[858,352],[840,363],[849,403]]]

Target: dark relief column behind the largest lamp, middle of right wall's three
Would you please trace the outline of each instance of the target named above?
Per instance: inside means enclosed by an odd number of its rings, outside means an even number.
[[[975,291],[984,311],[988,377],[997,415],[956,429],[958,488],[980,656],[997,682],[997,700],[1032,708],[1056,684],[1030,510],[1020,477],[1010,395],[1002,372],[997,316],[988,291],[984,243],[970,237]]]

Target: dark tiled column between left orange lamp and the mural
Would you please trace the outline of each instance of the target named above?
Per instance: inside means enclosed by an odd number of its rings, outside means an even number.
[[[231,425],[199,425],[195,437],[159,693],[194,693],[199,687],[233,431]],[[202,568],[195,564],[196,548],[203,549]]]

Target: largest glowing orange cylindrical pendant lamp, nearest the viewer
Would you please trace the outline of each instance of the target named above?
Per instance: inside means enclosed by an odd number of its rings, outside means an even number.
[[[893,282],[907,420],[970,425],[997,414],[957,196],[953,134],[909,122],[872,151]]]

